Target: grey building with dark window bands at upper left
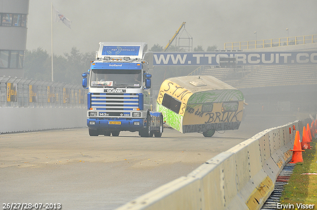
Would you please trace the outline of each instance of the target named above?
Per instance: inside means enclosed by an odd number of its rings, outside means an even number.
[[[0,0],[0,76],[23,78],[29,0]]]

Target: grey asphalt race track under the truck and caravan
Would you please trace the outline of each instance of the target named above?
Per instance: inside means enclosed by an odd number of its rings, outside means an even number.
[[[161,138],[136,132],[88,135],[88,128],[0,134],[0,202],[61,204],[63,210],[113,210],[256,133],[296,120],[295,115],[253,113],[238,130]],[[44,209],[44,208],[43,208]]]

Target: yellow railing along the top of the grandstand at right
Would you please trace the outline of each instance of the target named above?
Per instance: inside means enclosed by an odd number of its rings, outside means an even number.
[[[300,45],[317,42],[317,35],[286,37],[269,40],[254,40],[245,42],[226,42],[224,49],[259,49],[276,46]]]

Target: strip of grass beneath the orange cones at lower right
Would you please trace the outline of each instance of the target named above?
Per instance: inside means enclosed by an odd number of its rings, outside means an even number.
[[[311,142],[313,148],[302,152],[304,162],[295,165],[293,174],[280,198],[280,204],[292,204],[293,210],[300,210],[297,209],[297,204],[300,203],[315,205],[314,209],[317,209],[317,174],[303,174],[317,173],[316,143],[317,139],[313,138]]]

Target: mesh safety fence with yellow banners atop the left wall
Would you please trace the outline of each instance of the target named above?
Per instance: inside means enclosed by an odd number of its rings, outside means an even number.
[[[87,90],[64,84],[0,77],[0,107],[87,107]]]

